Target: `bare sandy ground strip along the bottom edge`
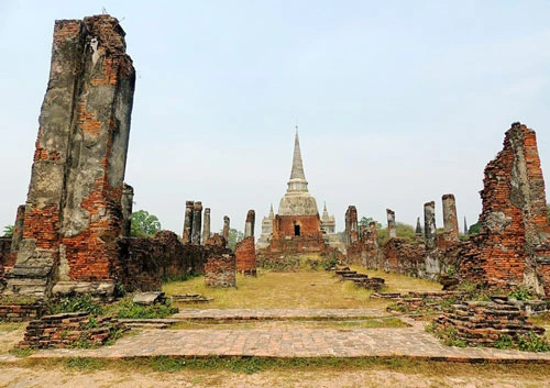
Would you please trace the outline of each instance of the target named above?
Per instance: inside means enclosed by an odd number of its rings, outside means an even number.
[[[139,370],[79,372],[65,367],[0,367],[1,387],[457,387],[515,388],[550,387],[550,381],[529,376],[426,377],[387,370],[353,372],[262,372],[252,375],[231,372],[182,370],[142,373]]]

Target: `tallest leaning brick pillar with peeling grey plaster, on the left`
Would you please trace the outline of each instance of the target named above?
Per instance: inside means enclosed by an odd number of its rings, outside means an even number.
[[[50,80],[7,293],[45,298],[59,280],[112,285],[135,71],[103,14],[55,22]]]

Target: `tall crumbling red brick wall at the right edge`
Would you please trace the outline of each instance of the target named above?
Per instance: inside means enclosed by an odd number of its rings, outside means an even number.
[[[535,131],[514,123],[485,168],[482,228],[461,260],[463,279],[504,290],[527,287],[550,296],[544,181]]]

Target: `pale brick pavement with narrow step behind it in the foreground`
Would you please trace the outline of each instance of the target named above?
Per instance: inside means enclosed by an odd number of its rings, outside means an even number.
[[[250,314],[244,314],[243,311]],[[174,318],[212,317],[380,317],[381,310],[185,310]],[[330,313],[329,313],[330,311]],[[279,317],[279,318],[280,318]],[[271,319],[271,318],[270,318]],[[315,318],[314,318],[315,319]],[[292,324],[251,330],[143,330],[124,336],[112,346],[95,350],[38,351],[30,358],[100,357],[132,358],[151,356],[206,357],[409,357],[453,362],[522,362],[550,364],[549,353],[499,351],[494,348],[449,347],[426,333],[424,323],[400,329],[301,329]]]

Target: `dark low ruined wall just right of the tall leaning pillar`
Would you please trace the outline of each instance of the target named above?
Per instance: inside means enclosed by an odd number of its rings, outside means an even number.
[[[209,257],[231,253],[221,246],[183,244],[169,231],[161,231],[154,237],[119,239],[117,246],[123,268],[119,281],[127,291],[160,290],[163,279],[202,275]]]

